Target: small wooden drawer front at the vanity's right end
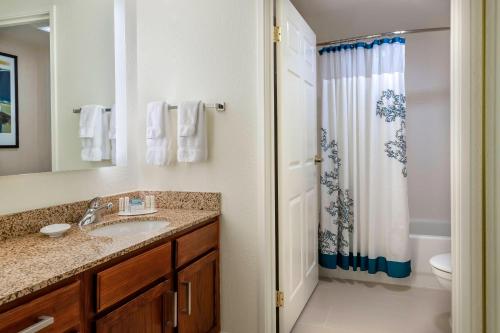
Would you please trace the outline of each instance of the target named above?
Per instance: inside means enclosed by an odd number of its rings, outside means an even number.
[[[217,248],[219,242],[219,224],[212,223],[195,230],[177,240],[176,267],[180,267],[194,258]]]

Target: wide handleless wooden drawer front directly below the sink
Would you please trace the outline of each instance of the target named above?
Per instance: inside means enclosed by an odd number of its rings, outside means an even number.
[[[167,243],[97,273],[97,311],[168,275],[171,253],[171,243]]]

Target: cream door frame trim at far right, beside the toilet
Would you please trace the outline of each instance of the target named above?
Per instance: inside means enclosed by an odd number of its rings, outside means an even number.
[[[483,331],[482,10],[482,1],[451,1],[451,246],[454,333]]]

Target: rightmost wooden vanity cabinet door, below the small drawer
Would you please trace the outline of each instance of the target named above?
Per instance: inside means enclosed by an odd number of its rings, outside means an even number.
[[[219,252],[180,271],[177,290],[179,332],[219,332]]]

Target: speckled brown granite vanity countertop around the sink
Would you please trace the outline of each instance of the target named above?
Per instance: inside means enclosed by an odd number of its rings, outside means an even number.
[[[101,224],[130,220],[167,220],[170,226],[156,231],[120,237],[94,237],[75,224],[61,238],[40,233],[0,242],[0,305],[75,276],[110,259],[219,216],[218,211],[160,209],[147,216],[103,217]],[[94,227],[92,227],[94,228]]]

